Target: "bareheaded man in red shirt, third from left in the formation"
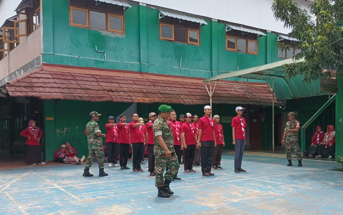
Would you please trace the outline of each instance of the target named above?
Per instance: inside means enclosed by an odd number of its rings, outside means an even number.
[[[132,169],[134,172],[143,172],[141,168],[141,161],[143,160],[145,134],[143,126],[144,123],[138,121],[138,114],[131,115],[132,122],[129,123],[132,144]]]

